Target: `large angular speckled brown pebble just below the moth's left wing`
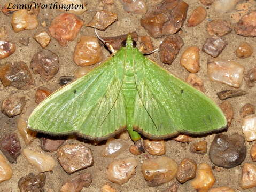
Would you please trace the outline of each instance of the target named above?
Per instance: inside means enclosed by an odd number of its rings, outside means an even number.
[[[59,147],[57,158],[68,174],[84,169],[94,163],[91,149],[81,143],[67,144]]]

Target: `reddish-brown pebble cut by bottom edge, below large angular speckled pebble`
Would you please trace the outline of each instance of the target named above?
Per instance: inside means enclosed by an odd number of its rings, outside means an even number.
[[[89,187],[92,182],[90,173],[81,173],[69,178],[60,188],[60,192],[80,192],[83,187]]]

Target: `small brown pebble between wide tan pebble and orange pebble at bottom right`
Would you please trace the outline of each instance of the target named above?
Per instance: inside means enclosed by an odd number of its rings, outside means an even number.
[[[192,159],[185,158],[178,167],[176,179],[180,183],[185,183],[196,177],[197,164]]]

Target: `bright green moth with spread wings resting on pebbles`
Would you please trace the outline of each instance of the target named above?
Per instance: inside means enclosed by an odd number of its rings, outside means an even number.
[[[29,129],[105,140],[123,130],[164,139],[178,133],[207,133],[227,124],[221,109],[203,93],[126,46],[87,75],[42,101]]]

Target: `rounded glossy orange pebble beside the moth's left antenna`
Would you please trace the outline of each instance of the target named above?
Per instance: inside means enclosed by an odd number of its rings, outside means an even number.
[[[88,66],[102,60],[102,49],[94,36],[82,36],[73,54],[76,65]]]

